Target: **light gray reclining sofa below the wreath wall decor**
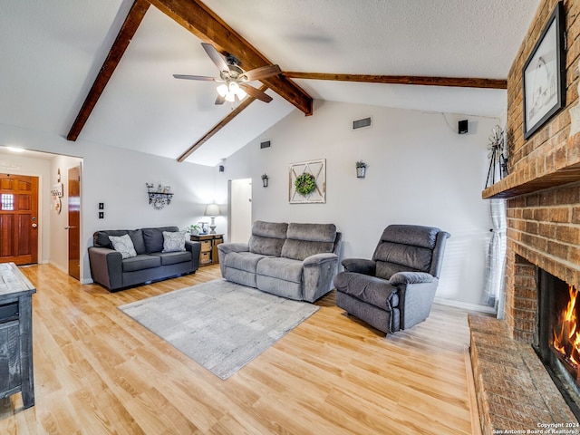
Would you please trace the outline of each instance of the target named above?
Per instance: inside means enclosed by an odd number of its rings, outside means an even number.
[[[333,224],[256,221],[248,243],[218,245],[219,267],[228,281],[314,302],[333,288],[340,248]]]

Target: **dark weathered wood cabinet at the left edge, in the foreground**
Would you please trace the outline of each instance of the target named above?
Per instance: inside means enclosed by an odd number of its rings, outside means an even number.
[[[22,392],[34,406],[34,286],[14,263],[0,264],[0,398]]]

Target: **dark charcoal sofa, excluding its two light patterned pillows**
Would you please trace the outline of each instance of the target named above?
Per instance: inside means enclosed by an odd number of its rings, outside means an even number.
[[[133,285],[159,281],[198,270],[199,242],[185,241],[185,250],[163,252],[163,232],[178,233],[178,227],[117,229],[97,231],[89,247],[92,280],[114,292]],[[111,245],[112,237],[129,235],[136,256],[122,257]]]

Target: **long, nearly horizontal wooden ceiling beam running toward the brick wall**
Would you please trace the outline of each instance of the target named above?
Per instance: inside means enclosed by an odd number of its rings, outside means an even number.
[[[507,80],[496,79],[424,77],[414,75],[368,75],[294,72],[284,72],[282,75],[289,79],[332,80],[335,82],[419,84],[423,86],[449,86],[456,88],[507,89]]]

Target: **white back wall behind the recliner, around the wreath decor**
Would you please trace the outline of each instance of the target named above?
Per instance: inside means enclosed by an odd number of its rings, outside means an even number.
[[[352,121],[367,116],[372,128],[352,131]],[[461,119],[469,120],[468,134],[457,133]],[[230,156],[227,178],[253,179],[255,220],[336,224],[343,257],[371,257],[391,223],[440,227],[451,237],[438,298],[479,304],[490,225],[481,191],[488,135],[498,122],[324,102],[310,117],[293,112]],[[264,140],[272,145],[261,150]],[[289,164],[316,159],[326,160],[326,203],[289,204]],[[356,178],[356,160],[369,164],[366,179]]]

